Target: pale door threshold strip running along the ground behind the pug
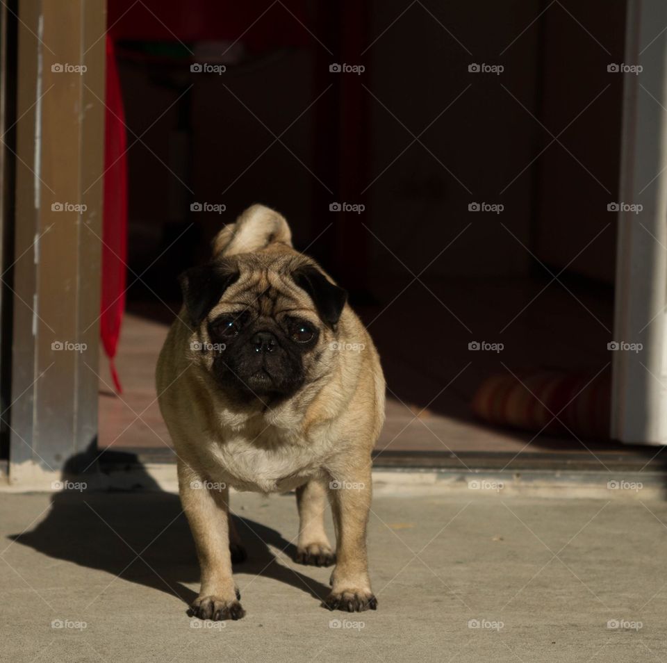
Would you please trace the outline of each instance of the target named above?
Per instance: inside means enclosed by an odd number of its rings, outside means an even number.
[[[535,496],[649,500],[667,498],[663,448],[624,452],[376,452],[373,489],[379,496],[447,495],[465,498]],[[665,455],[667,459],[667,454]],[[67,477],[35,466],[32,480],[6,482],[0,491],[167,491],[176,493],[171,448],[105,450],[88,473]],[[26,475],[27,477],[28,475]],[[56,486],[56,487],[54,487]],[[83,488],[81,486],[84,486]]]

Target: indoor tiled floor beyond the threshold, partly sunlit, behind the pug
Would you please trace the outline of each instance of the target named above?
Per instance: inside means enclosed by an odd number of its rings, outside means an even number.
[[[532,434],[496,429],[475,420],[470,399],[492,373],[522,368],[602,368],[609,361],[611,297],[604,290],[515,281],[435,288],[415,284],[396,306],[358,307],[381,351],[388,381],[386,425],[377,448],[424,451],[518,452]],[[524,309],[532,298],[535,300]],[[577,301],[578,300],[578,301]],[[165,306],[133,308],[117,355],[124,393],[113,395],[106,359],[100,361],[101,448],[170,445],[160,418],[154,367],[172,314]],[[507,329],[503,329],[513,320]],[[160,320],[160,321],[158,321]],[[164,322],[163,322],[164,320]],[[504,343],[502,354],[468,352],[473,340]],[[572,439],[542,434],[533,452],[576,451]]]

